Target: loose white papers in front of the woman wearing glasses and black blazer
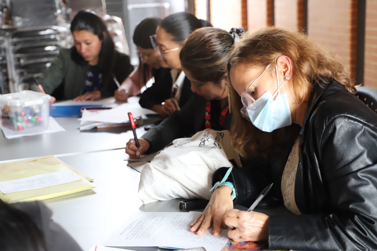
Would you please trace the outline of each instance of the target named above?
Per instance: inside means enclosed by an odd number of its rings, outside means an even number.
[[[106,123],[124,123],[129,121],[129,112],[132,113],[134,118],[146,114],[156,114],[155,111],[142,108],[139,103],[123,103],[115,108],[81,117],[80,120]]]

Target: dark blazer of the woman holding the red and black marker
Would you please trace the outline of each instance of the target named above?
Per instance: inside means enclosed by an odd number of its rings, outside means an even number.
[[[193,94],[180,111],[176,111],[141,136],[150,142],[147,154],[161,150],[176,138],[191,137],[196,132],[204,130],[206,104],[207,100],[198,94]],[[225,115],[224,124],[221,126],[219,124],[221,110],[220,101],[211,100],[211,128],[228,130],[231,115],[229,113]]]

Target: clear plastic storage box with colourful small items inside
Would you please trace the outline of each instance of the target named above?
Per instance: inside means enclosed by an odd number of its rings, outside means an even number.
[[[2,125],[20,132],[47,129],[50,100],[51,96],[36,91],[0,95]]]

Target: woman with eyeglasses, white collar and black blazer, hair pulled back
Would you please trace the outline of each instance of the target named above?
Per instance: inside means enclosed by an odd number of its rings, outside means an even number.
[[[161,66],[171,70],[164,81],[155,82],[144,91],[139,100],[142,107],[169,116],[190,99],[191,83],[182,71],[179,52],[187,37],[195,29],[204,26],[211,25],[187,12],[169,15],[161,21],[156,35],[151,36],[151,42],[159,55]]]

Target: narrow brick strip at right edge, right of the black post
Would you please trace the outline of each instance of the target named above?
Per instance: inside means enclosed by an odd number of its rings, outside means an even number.
[[[377,1],[366,1],[364,85],[377,90]]]

